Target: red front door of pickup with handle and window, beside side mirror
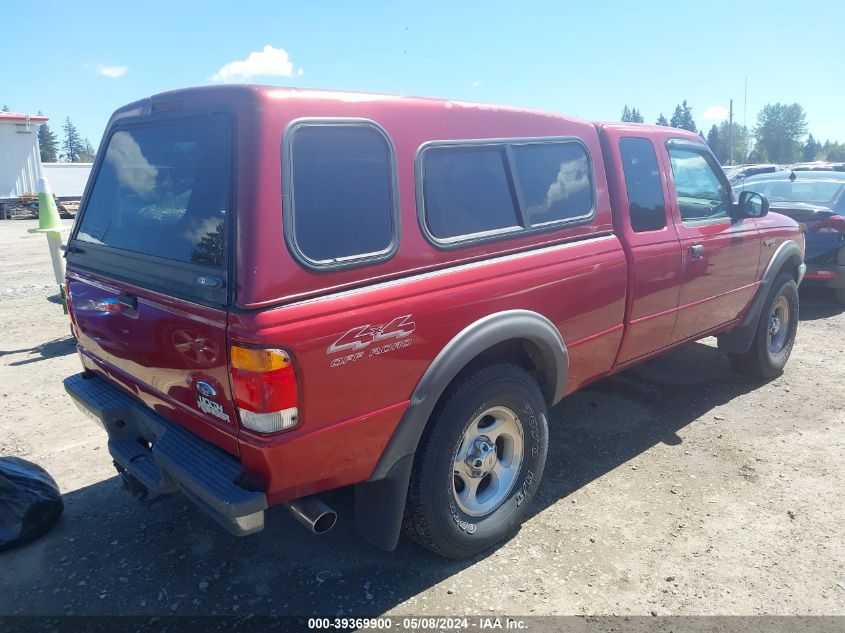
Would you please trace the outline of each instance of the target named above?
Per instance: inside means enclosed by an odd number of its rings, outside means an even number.
[[[706,145],[670,140],[664,152],[683,257],[674,343],[739,316],[756,288],[760,239],[754,220],[730,217],[730,185]]]

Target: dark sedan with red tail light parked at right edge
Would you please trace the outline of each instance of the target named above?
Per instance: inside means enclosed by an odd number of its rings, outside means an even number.
[[[781,171],[747,178],[742,190],[765,194],[772,211],[807,227],[804,283],[832,288],[845,304],[845,173]]]

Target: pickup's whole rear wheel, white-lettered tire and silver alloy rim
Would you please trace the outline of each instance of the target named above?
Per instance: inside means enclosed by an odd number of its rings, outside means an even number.
[[[516,531],[543,475],[547,418],[539,386],[516,365],[450,387],[420,440],[405,508],[409,536],[462,559]]]

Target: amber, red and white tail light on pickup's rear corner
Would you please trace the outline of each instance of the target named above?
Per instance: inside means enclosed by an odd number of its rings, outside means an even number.
[[[232,388],[241,424],[259,433],[296,426],[296,372],[280,349],[232,346]]]

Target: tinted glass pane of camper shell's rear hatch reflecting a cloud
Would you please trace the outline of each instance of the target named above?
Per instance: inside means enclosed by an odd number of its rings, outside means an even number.
[[[222,116],[118,129],[108,139],[76,239],[222,268],[230,136]]]

